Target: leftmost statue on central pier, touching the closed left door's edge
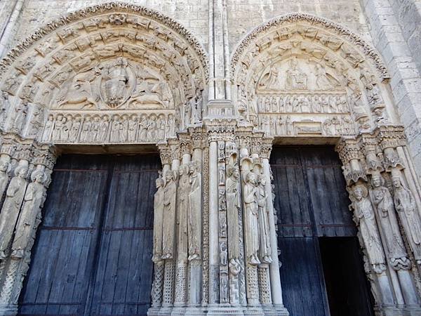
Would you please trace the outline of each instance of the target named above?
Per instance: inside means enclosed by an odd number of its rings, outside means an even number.
[[[152,261],[161,261],[162,256],[162,225],[163,225],[163,178],[156,179],[156,193],[154,195],[154,254]]]

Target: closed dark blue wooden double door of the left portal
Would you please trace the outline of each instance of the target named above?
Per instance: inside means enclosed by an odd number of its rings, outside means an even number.
[[[60,157],[20,296],[21,315],[145,315],[155,155]]]

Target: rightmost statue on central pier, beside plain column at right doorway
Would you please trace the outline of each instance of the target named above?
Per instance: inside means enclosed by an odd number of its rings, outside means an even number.
[[[267,208],[267,196],[265,191],[266,178],[260,175],[258,178],[258,209],[259,209],[259,254],[262,263],[272,263],[272,249],[269,240],[269,209]]]

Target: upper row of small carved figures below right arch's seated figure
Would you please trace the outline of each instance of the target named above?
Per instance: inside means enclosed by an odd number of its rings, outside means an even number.
[[[345,94],[293,93],[258,96],[259,112],[348,113]]]

